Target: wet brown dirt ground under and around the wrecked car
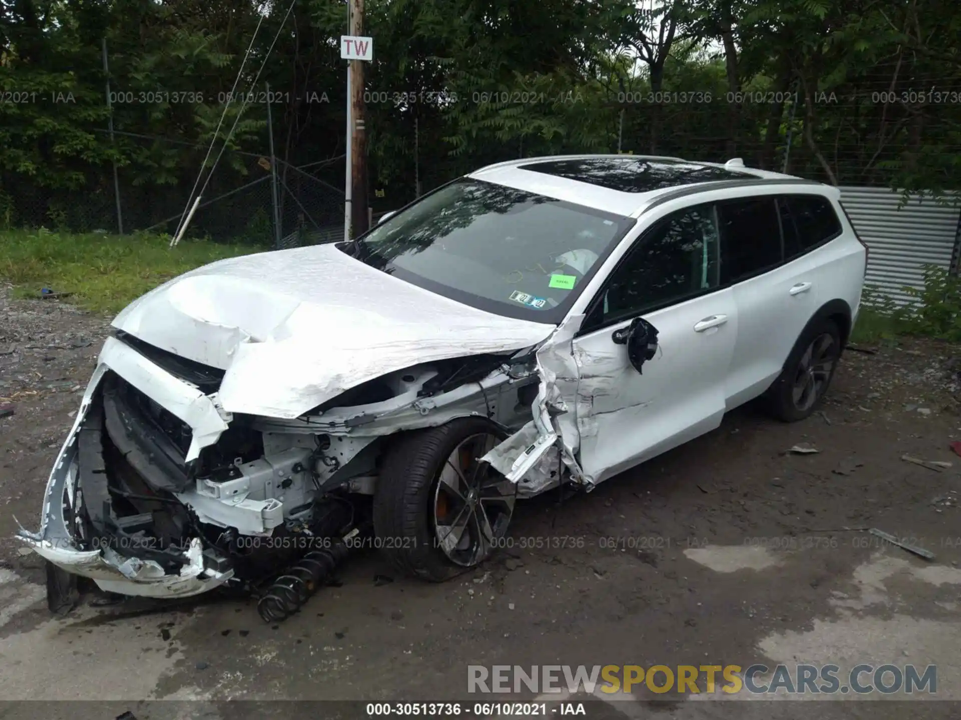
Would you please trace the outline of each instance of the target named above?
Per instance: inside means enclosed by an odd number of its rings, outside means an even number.
[[[17,520],[37,528],[107,327],[0,288],[0,406],[15,410],[0,420],[0,700],[113,701],[0,703],[4,717],[289,715],[281,700],[473,704],[491,697],[467,694],[468,664],[754,662],[937,664],[941,700],[703,703],[725,698],[636,687],[574,700],[612,718],[961,716],[961,458],[949,449],[961,440],[961,348],[849,351],[822,413],[782,424],[740,408],[594,492],[520,503],[513,547],[448,584],[394,576],[372,551],[277,626],[249,600],[222,598],[87,604],[54,618],[39,559],[12,535]],[[819,452],[785,454],[796,444]],[[860,527],[936,557],[845,529]],[[341,706],[321,708],[310,714]]]

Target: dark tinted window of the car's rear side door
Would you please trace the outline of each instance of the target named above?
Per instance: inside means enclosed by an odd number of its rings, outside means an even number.
[[[718,222],[721,282],[736,282],[780,263],[780,225],[774,197],[718,204]]]

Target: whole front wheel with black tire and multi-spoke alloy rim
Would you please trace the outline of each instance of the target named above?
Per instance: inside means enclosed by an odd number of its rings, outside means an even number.
[[[487,420],[463,418],[394,444],[374,493],[374,532],[392,564],[441,582],[490,556],[506,535],[517,486],[480,458],[503,439]]]

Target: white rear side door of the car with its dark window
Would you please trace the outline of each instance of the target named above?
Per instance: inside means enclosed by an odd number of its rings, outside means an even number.
[[[784,263],[775,195],[718,204],[721,283],[729,285],[739,318],[727,374],[727,408],[763,393],[781,372],[801,330],[819,307],[812,263]]]

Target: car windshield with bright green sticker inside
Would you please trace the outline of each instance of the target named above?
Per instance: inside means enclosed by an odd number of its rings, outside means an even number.
[[[357,242],[362,262],[482,310],[560,323],[629,218],[480,180],[445,185]]]

